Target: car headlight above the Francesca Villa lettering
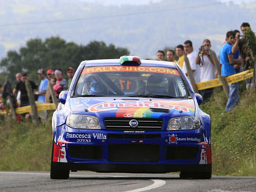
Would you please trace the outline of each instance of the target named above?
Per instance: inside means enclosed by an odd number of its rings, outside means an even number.
[[[100,129],[98,118],[89,115],[69,115],[66,124],[72,128]]]

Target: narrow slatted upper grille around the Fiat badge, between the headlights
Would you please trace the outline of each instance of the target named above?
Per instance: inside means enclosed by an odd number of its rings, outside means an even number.
[[[132,119],[138,120],[138,126],[132,128],[129,126],[129,121]],[[161,131],[162,119],[154,118],[105,118],[105,128],[115,131]]]

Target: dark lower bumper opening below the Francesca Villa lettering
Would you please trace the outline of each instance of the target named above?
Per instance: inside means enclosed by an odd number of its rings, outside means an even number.
[[[100,146],[69,146],[68,149],[72,158],[102,159],[102,147]]]

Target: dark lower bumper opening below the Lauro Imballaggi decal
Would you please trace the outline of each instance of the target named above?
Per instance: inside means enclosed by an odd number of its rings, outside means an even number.
[[[189,159],[196,158],[199,147],[169,146],[166,147],[166,159]]]

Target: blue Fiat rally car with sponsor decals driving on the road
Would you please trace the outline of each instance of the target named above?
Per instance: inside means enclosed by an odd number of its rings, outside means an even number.
[[[83,61],[59,100],[50,178],[70,170],[211,178],[211,119],[178,65]]]

